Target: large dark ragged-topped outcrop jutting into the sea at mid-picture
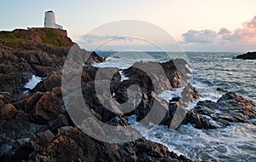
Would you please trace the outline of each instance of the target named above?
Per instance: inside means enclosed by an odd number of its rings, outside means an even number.
[[[191,72],[186,65],[187,62],[183,59],[163,63],[141,61],[123,70],[122,73],[125,77],[137,79],[143,90],[154,90],[155,93],[161,93],[163,90],[181,87],[189,80],[188,74]],[[146,71],[143,72],[143,69]],[[156,90],[157,87],[159,89]]]

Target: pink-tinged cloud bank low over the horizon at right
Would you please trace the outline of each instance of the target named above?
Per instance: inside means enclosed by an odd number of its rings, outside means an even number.
[[[195,43],[234,43],[234,42],[255,42],[256,43],[256,16],[253,20],[242,24],[241,28],[235,31],[230,31],[226,28],[221,28],[218,32],[206,30],[189,30],[182,35],[184,44]]]

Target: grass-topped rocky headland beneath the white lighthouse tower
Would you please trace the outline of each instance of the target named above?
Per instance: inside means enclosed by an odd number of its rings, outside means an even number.
[[[0,89],[23,86],[32,77],[47,77],[61,70],[69,49],[84,49],[67,37],[67,31],[50,28],[0,32]],[[95,61],[101,58],[96,55]]]

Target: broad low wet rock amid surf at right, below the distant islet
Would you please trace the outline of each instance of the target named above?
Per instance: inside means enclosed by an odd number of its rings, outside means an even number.
[[[256,119],[253,101],[247,100],[233,92],[224,94],[217,102],[199,101],[195,106],[195,113],[212,118],[215,127],[224,127],[230,123],[250,123],[249,119]]]

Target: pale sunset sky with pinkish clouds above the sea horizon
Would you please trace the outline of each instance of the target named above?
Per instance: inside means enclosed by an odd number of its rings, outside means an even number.
[[[44,12],[54,10],[74,42],[96,43],[119,36],[84,34],[116,20],[143,20],[159,26],[177,40],[184,50],[256,50],[255,0],[15,0],[1,1],[0,30],[43,26]],[[157,36],[155,36],[157,38]],[[129,43],[147,49],[147,43],[119,39],[119,49]],[[111,46],[106,47],[111,49]]]

